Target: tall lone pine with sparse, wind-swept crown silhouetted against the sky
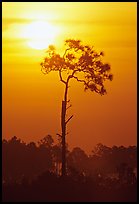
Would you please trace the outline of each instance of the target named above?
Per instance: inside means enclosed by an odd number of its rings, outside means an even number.
[[[47,56],[41,62],[42,72],[59,73],[60,81],[65,85],[64,99],[61,111],[62,129],[62,175],[66,174],[66,127],[73,117],[66,119],[68,106],[68,88],[71,79],[84,84],[84,90],[91,90],[100,95],[106,94],[104,82],[112,80],[110,65],[102,62],[103,52],[96,52],[92,46],[83,45],[80,40],[68,39],[65,41],[65,51],[62,56],[57,54],[54,46],[49,46]]]

